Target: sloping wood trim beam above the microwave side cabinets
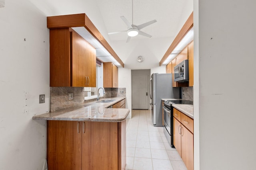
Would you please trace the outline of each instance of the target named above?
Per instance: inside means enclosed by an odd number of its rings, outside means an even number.
[[[164,61],[168,58],[168,56],[172,53],[172,51],[175,49],[175,47],[180,43],[180,41],[184,38],[186,33],[193,27],[193,12],[188,17],[188,20],[184,23],[183,27],[180,29],[180,32],[173,40],[172,44],[164,54],[164,57],[161,59],[159,66],[161,66]]]

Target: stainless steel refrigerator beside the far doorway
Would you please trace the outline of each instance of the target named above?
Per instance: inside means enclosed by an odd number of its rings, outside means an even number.
[[[151,118],[154,126],[162,125],[162,99],[180,98],[180,88],[172,88],[172,74],[153,73],[150,78]]]

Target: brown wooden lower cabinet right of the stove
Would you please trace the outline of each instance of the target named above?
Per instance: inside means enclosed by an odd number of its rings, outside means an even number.
[[[188,170],[194,170],[194,128],[193,119],[173,110],[173,145]]]

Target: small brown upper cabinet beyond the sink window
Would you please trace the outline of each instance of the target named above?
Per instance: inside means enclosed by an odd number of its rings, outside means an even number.
[[[103,63],[103,87],[118,87],[118,67],[111,62]]]

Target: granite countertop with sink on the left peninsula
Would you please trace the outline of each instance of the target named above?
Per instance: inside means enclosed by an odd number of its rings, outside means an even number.
[[[113,104],[120,102],[125,97],[104,98],[115,99],[114,102],[98,103],[89,102],[81,106],[70,107],[67,109],[35,115],[34,120],[65,120],[65,121],[102,121],[102,122],[120,122],[128,116],[129,109],[108,108]]]

